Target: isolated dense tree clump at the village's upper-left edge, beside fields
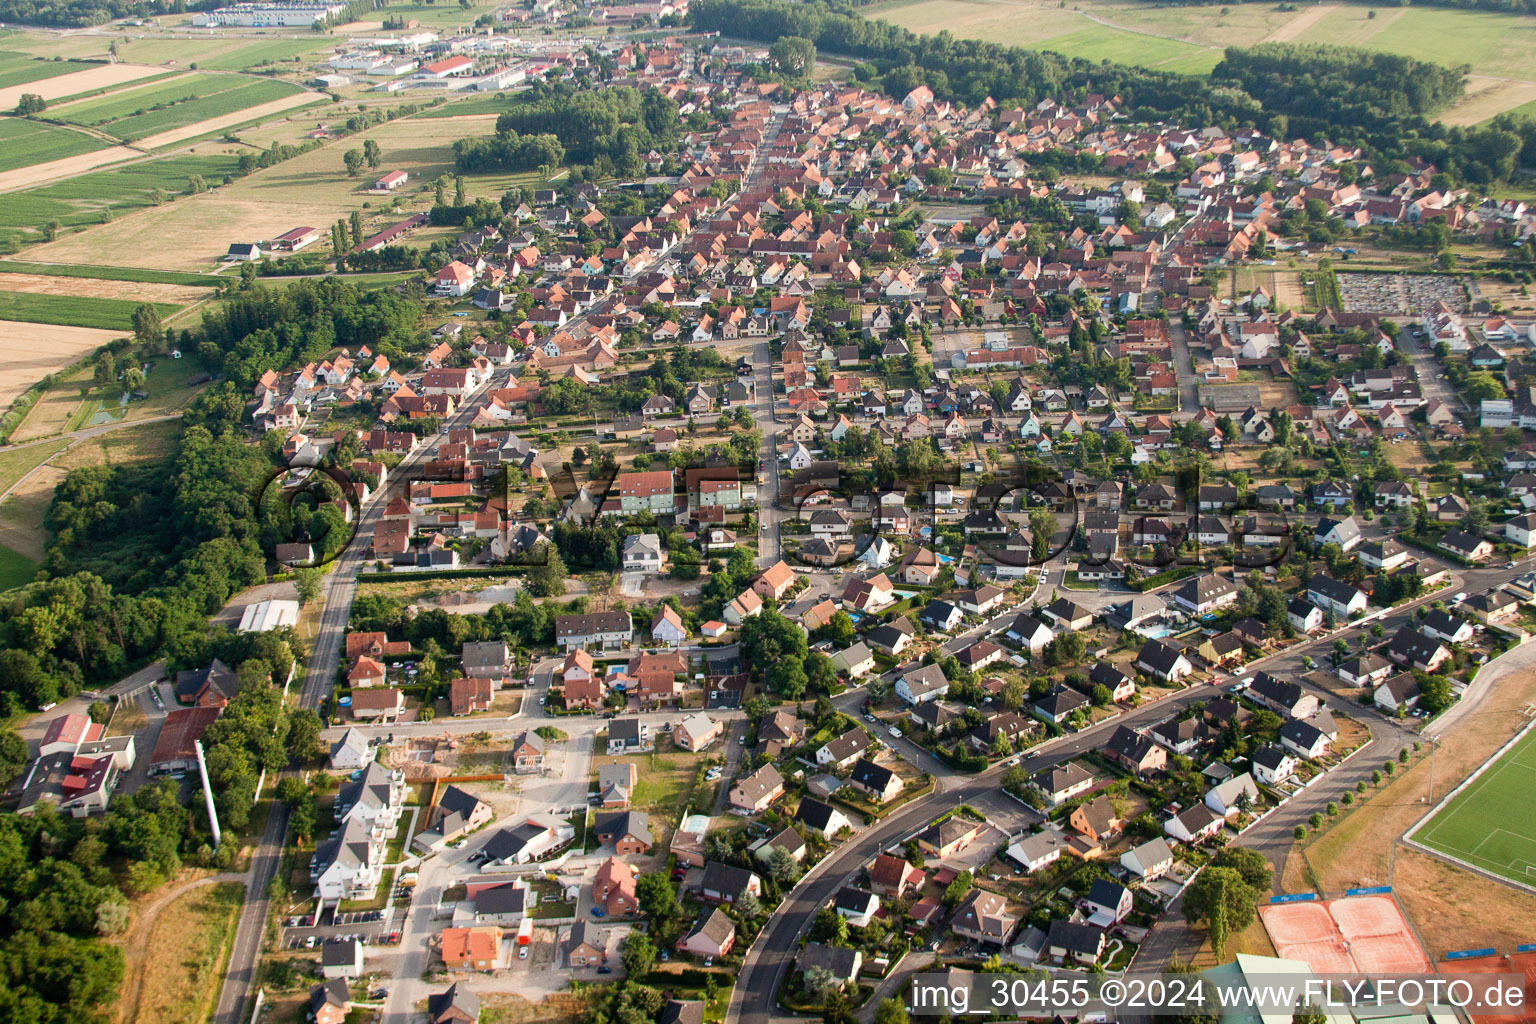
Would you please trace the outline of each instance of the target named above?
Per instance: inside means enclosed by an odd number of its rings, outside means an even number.
[[[496,118],[490,138],[453,144],[461,172],[527,170],[562,160],[634,177],[651,149],[670,152],[682,132],[677,101],[656,89],[578,91],[539,83]]]

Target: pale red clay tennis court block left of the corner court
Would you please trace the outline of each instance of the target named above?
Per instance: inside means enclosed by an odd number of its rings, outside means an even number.
[[[1392,897],[1346,897],[1319,903],[1275,903],[1260,920],[1286,960],[1318,973],[1415,973],[1430,961]]]

